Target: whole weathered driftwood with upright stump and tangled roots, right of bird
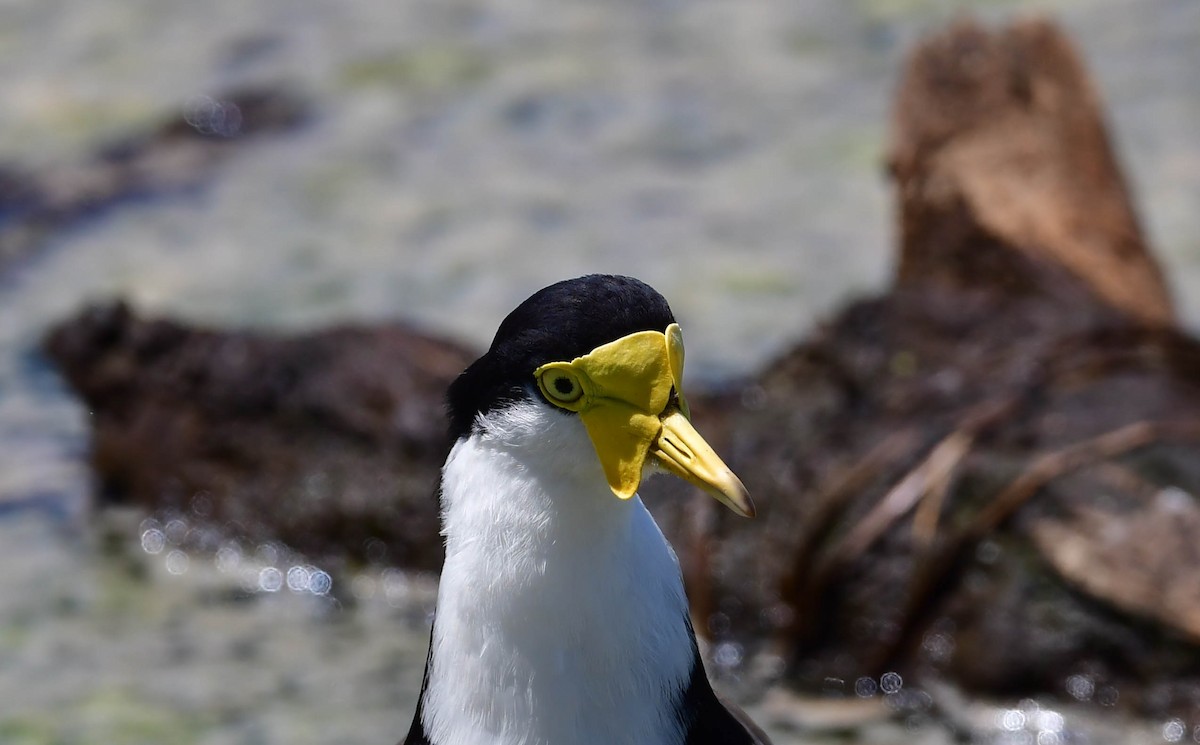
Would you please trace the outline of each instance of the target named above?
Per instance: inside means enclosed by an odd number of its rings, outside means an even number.
[[[806,687],[1082,674],[1187,710],[1200,566],[1153,530],[1200,494],[1200,344],[1170,329],[1078,55],[1044,22],[955,24],[913,53],[890,154],[893,289],[702,425],[761,519],[713,516],[697,607],[773,636]]]

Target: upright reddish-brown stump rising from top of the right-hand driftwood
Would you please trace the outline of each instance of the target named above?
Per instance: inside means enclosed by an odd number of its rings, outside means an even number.
[[[1019,292],[1058,286],[1066,271],[1076,292],[1171,322],[1099,98],[1055,26],[961,22],[926,40],[892,130],[901,287],[937,278]]]

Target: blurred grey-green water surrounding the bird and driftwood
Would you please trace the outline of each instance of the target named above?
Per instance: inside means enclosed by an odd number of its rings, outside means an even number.
[[[604,271],[668,298],[692,379],[751,374],[889,282],[892,95],[906,52],[967,11],[1072,35],[1200,331],[1194,0],[0,4],[0,743],[392,743],[436,583],[337,575],[347,603],[275,547],[190,554],[170,548],[186,524],[94,513],[90,413],[38,350],[50,324],[124,296],[478,348],[533,290]],[[262,128],[238,91],[266,102]],[[96,167],[176,118],[228,142]]]

